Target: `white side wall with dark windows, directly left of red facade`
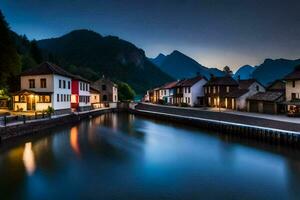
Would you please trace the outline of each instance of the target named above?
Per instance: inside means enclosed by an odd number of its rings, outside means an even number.
[[[59,80],[62,81],[61,88],[59,88]],[[66,88],[63,88],[63,80],[66,81]],[[68,81],[70,81],[70,89],[68,89]],[[71,78],[53,75],[53,95],[51,96],[52,107],[54,110],[70,109],[71,108]],[[57,101],[57,94],[59,94],[59,102]],[[69,99],[66,97],[66,101],[61,101],[61,95],[69,95]]]

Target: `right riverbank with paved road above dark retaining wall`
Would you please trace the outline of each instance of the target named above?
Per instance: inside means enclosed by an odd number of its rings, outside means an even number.
[[[274,144],[300,146],[300,124],[286,121],[152,104],[138,104],[132,113],[190,124]]]

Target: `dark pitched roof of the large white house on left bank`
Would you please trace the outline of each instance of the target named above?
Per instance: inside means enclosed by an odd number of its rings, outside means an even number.
[[[50,63],[43,62],[39,66],[28,69],[21,73],[21,76],[30,76],[30,75],[45,75],[45,74],[58,74],[61,76],[66,76],[72,78],[72,74],[65,71],[61,67]]]

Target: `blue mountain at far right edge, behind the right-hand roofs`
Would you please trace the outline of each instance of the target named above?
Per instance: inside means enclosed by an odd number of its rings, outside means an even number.
[[[260,81],[264,85],[268,85],[277,79],[292,72],[296,65],[300,64],[298,60],[287,59],[266,59],[261,65],[255,67],[252,77]]]

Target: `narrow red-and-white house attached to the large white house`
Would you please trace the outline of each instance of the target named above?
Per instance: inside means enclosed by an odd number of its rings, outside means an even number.
[[[91,109],[90,82],[80,76],[72,77],[71,108],[76,111]]]

